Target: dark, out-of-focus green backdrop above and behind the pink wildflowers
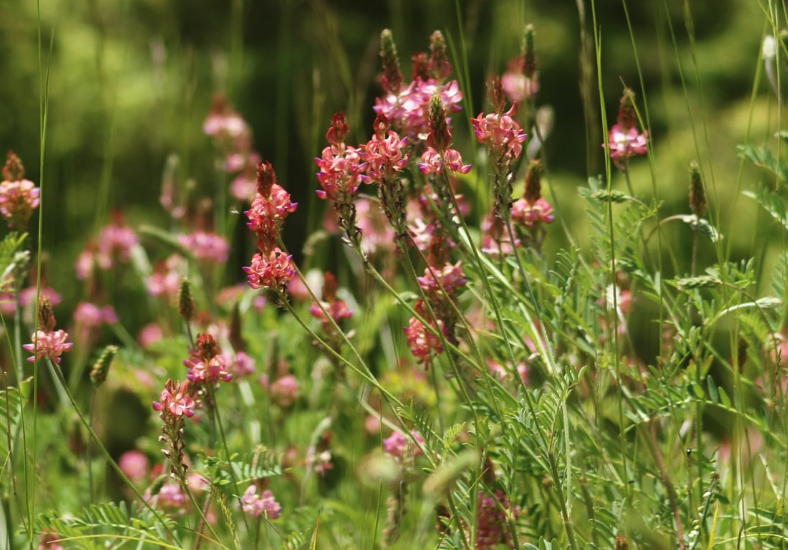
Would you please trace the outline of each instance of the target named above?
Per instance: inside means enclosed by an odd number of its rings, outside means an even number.
[[[596,8],[608,118],[612,123],[622,83],[636,91],[644,114],[647,100],[663,216],[688,212],[687,165],[699,157],[716,195],[712,208],[723,206],[720,229],[734,239],[733,258],[765,253],[769,243],[753,242],[755,231],[739,231],[742,221],[747,228],[768,223],[751,201],[740,198],[731,216],[737,186],[761,177],[751,168],[740,175],[735,147],[748,131],[753,143],[773,142],[778,120],[768,83],[762,76],[754,80],[768,29],[760,3],[599,0]],[[41,0],[40,24],[38,10],[31,0],[0,3],[0,147],[15,150],[30,179],[41,181],[39,94],[49,67],[43,246],[48,282],[64,295],[66,309],[81,292],[73,285],[76,257],[112,209],[134,226],[167,223],[159,194],[168,155],[179,156],[179,177],[194,178],[203,194],[213,196],[227,184],[217,176],[216,152],[201,128],[217,91],[246,118],[255,148],[274,162],[301,203],[286,228],[289,246],[299,249],[322,219],[312,159],[323,147],[331,114],[349,114],[355,139],[369,133],[380,93],[379,34],[386,27],[394,32],[406,74],[410,55],[427,49],[431,31],[441,29],[458,48],[464,35],[474,111],[464,114],[476,115],[486,107],[485,78],[505,70],[519,51],[524,24],[535,25],[538,104],[555,113],[546,149],[549,181],[571,233],[584,242],[584,203],[576,189],[603,171],[593,72],[588,138],[581,94],[582,68],[595,66],[593,50],[581,55],[582,32],[593,44],[588,1]],[[467,125],[456,126],[460,149],[470,154]],[[647,160],[633,162],[632,177],[638,194],[652,196]],[[615,178],[623,189],[621,176]],[[732,219],[737,225],[729,225]],[[248,239],[241,224],[238,229],[237,238]],[[687,226],[671,227],[667,235],[689,258]],[[553,249],[566,244],[558,225],[550,238]],[[240,268],[247,250],[234,249],[231,262]],[[710,246],[700,254],[702,266],[715,257]],[[234,267],[225,282],[242,278]],[[123,306],[117,307],[123,316]]]

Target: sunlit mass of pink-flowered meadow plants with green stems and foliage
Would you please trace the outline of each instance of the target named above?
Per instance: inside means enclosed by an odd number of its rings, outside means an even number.
[[[582,153],[549,147],[530,24],[484,82],[439,30],[408,78],[383,30],[378,95],[314,121],[301,196],[216,94],[219,189],[170,157],[166,223],[96,224],[70,316],[47,286],[47,188],[9,152],[0,550],[784,548],[787,134],[739,148],[748,187],[693,126],[684,179],[662,178],[642,81],[606,111],[592,15],[604,170],[571,191],[582,233],[551,171]],[[781,111],[778,44],[759,63]]]

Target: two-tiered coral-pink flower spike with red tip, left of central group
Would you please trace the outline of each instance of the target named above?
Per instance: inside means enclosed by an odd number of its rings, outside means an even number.
[[[252,257],[249,267],[244,267],[249,286],[283,292],[295,275],[292,256],[282,252],[276,241],[282,223],[297,204],[290,202],[290,195],[276,183],[276,174],[270,162],[257,165],[257,194],[252,208],[245,214],[249,228],[257,235],[259,252]]]

